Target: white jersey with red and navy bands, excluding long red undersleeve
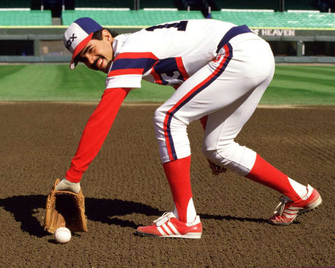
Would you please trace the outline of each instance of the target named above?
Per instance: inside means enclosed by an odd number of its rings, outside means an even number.
[[[113,41],[106,88],[139,88],[142,78],[179,86],[216,57],[232,27],[236,25],[218,20],[181,20],[121,34]]]

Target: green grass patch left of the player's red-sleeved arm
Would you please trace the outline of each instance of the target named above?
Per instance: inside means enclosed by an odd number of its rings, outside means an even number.
[[[105,75],[70,72],[67,65],[0,66],[0,84],[1,101],[93,101],[101,98]]]

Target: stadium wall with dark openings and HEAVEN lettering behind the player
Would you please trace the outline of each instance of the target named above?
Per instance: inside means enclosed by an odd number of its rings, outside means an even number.
[[[114,27],[119,34],[139,31],[143,27]],[[17,45],[14,54],[0,54],[0,62],[68,62],[70,53],[64,48],[62,38],[66,27],[0,27],[0,40],[8,46]],[[252,28],[255,34],[267,40],[274,50],[276,62],[292,63],[335,63],[335,29],[290,29],[290,28]],[[32,46],[31,54],[20,50],[20,46]],[[314,44],[325,45],[325,53],[306,53],[305,47]],[[331,44],[331,45],[329,45]],[[292,53],[287,53],[285,46],[292,48]],[[0,47],[2,48],[2,47]],[[2,48],[3,50],[3,48]],[[322,50],[322,49],[321,49]],[[334,51],[333,51],[334,50]],[[4,51],[4,50],[3,50]],[[320,50],[319,50],[320,51]],[[21,53],[22,52],[22,53]],[[330,56],[329,56],[330,55]]]

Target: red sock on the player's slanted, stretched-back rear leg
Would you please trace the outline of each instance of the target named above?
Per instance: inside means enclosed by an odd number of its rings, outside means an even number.
[[[256,156],[255,164],[246,178],[268,186],[279,193],[286,195],[292,201],[299,200],[299,195],[292,188],[288,176],[274,168],[259,155]]]

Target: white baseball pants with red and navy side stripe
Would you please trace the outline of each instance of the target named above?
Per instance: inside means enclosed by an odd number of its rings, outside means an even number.
[[[234,36],[214,61],[188,78],[154,114],[162,163],[191,155],[188,124],[204,116],[202,151],[216,165],[245,176],[256,153],[234,138],[274,75],[269,44],[252,33]]]

